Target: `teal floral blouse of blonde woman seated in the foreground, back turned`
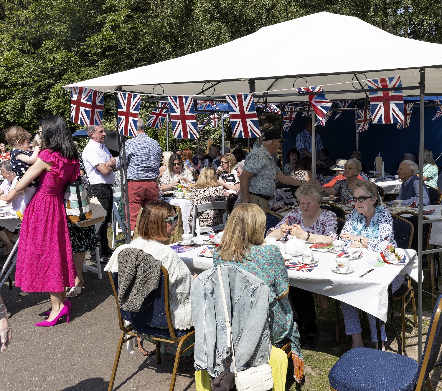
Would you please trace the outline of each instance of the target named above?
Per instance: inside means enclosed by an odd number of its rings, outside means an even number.
[[[261,278],[270,289],[270,338],[272,344],[281,341],[290,331],[293,322],[293,312],[289,298],[279,301],[278,297],[284,296],[289,290],[289,275],[286,264],[277,246],[252,245],[249,258],[244,259],[244,263],[235,263],[222,260],[217,255],[217,250],[213,252],[213,266],[232,264],[251,274]]]

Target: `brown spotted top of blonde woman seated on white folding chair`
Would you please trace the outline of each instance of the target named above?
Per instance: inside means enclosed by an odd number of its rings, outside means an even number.
[[[191,190],[191,213],[187,218],[189,226],[192,227],[193,224],[193,210],[194,204],[206,203],[206,202],[216,202],[225,201],[224,190],[222,188],[202,188],[202,189],[192,189]],[[210,209],[204,212],[198,212],[196,217],[198,218],[200,227],[214,227],[222,224],[222,214],[219,209]]]

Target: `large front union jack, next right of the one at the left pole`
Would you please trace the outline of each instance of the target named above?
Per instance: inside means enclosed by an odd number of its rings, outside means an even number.
[[[169,96],[169,110],[175,139],[198,139],[193,98],[191,96]]]

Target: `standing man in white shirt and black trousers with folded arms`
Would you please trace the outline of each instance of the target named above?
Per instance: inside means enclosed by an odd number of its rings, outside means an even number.
[[[98,198],[104,210],[107,211],[106,219],[100,226],[99,242],[101,254],[108,257],[112,255],[112,249],[109,247],[107,239],[107,225],[112,216],[112,204],[114,202],[112,184],[114,183],[114,168],[117,161],[104,146],[106,133],[102,126],[89,125],[86,131],[88,132],[89,142],[83,150],[83,163],[92,192]],[[110,166],[108,167],[106,163]]]

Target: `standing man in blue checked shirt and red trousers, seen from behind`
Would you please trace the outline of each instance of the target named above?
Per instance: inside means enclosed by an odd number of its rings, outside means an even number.
[[[137,137],[126,141],[127,188],[129,191],[130,229],[135,229],[141,207],[160,198],[157,179],[160,175],[161,148],[144,131],[144,121],[138,118]],[[117,169],[120,162],[117,161]]]

